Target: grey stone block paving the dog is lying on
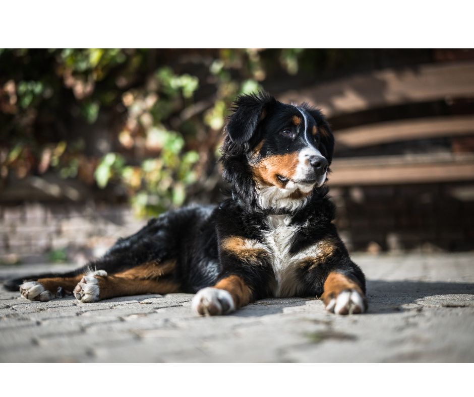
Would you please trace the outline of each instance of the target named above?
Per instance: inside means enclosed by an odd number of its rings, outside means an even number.
[[[473,362],[474,254],[353,255],[369,312],[265,299],[198,317],[190,294],[78,304],[0,290],[1,362]],[[1,267],[0,278],[70,266]]]

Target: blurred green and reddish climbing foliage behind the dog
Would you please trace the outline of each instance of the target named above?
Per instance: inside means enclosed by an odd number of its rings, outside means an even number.
[[[121,191],[137,214],[158,214],[183,204],[191,188],[213,188],[206,182],[237,95],[269,81],[314,82],[358,54],[0,49],[0,183],[54,174],[110,197]]]

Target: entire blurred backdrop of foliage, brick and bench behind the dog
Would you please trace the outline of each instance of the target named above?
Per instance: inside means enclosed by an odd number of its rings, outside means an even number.
[[[0,49],[0,263],[83,263],[220,201],[227,109],[259,89],[328,116],[350,250],[474,249],[473,50]]]

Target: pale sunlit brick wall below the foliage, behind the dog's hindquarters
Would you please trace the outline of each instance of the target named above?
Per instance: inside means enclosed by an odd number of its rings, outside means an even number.
[[[64,250],[83,263],[146,221],[127,206],[22,204],[0,207],[0,261],[49,261]],[[61,252],[59,253],[61,256]]]

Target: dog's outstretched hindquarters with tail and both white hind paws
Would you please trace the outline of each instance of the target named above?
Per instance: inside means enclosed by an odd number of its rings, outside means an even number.
[[[186,215],[186,214],[185,214]],[[9,280],[29,300],[48,301],[74,293],[81,302],[142,293],[168,293],[181,286],[174,260],[179,256],[176,228],[189,217],[166,214],[152,219],[127,238],[118,239],[104,256],[67,274],[34,275]],[[172,225],[173,227],[171,227]]]

